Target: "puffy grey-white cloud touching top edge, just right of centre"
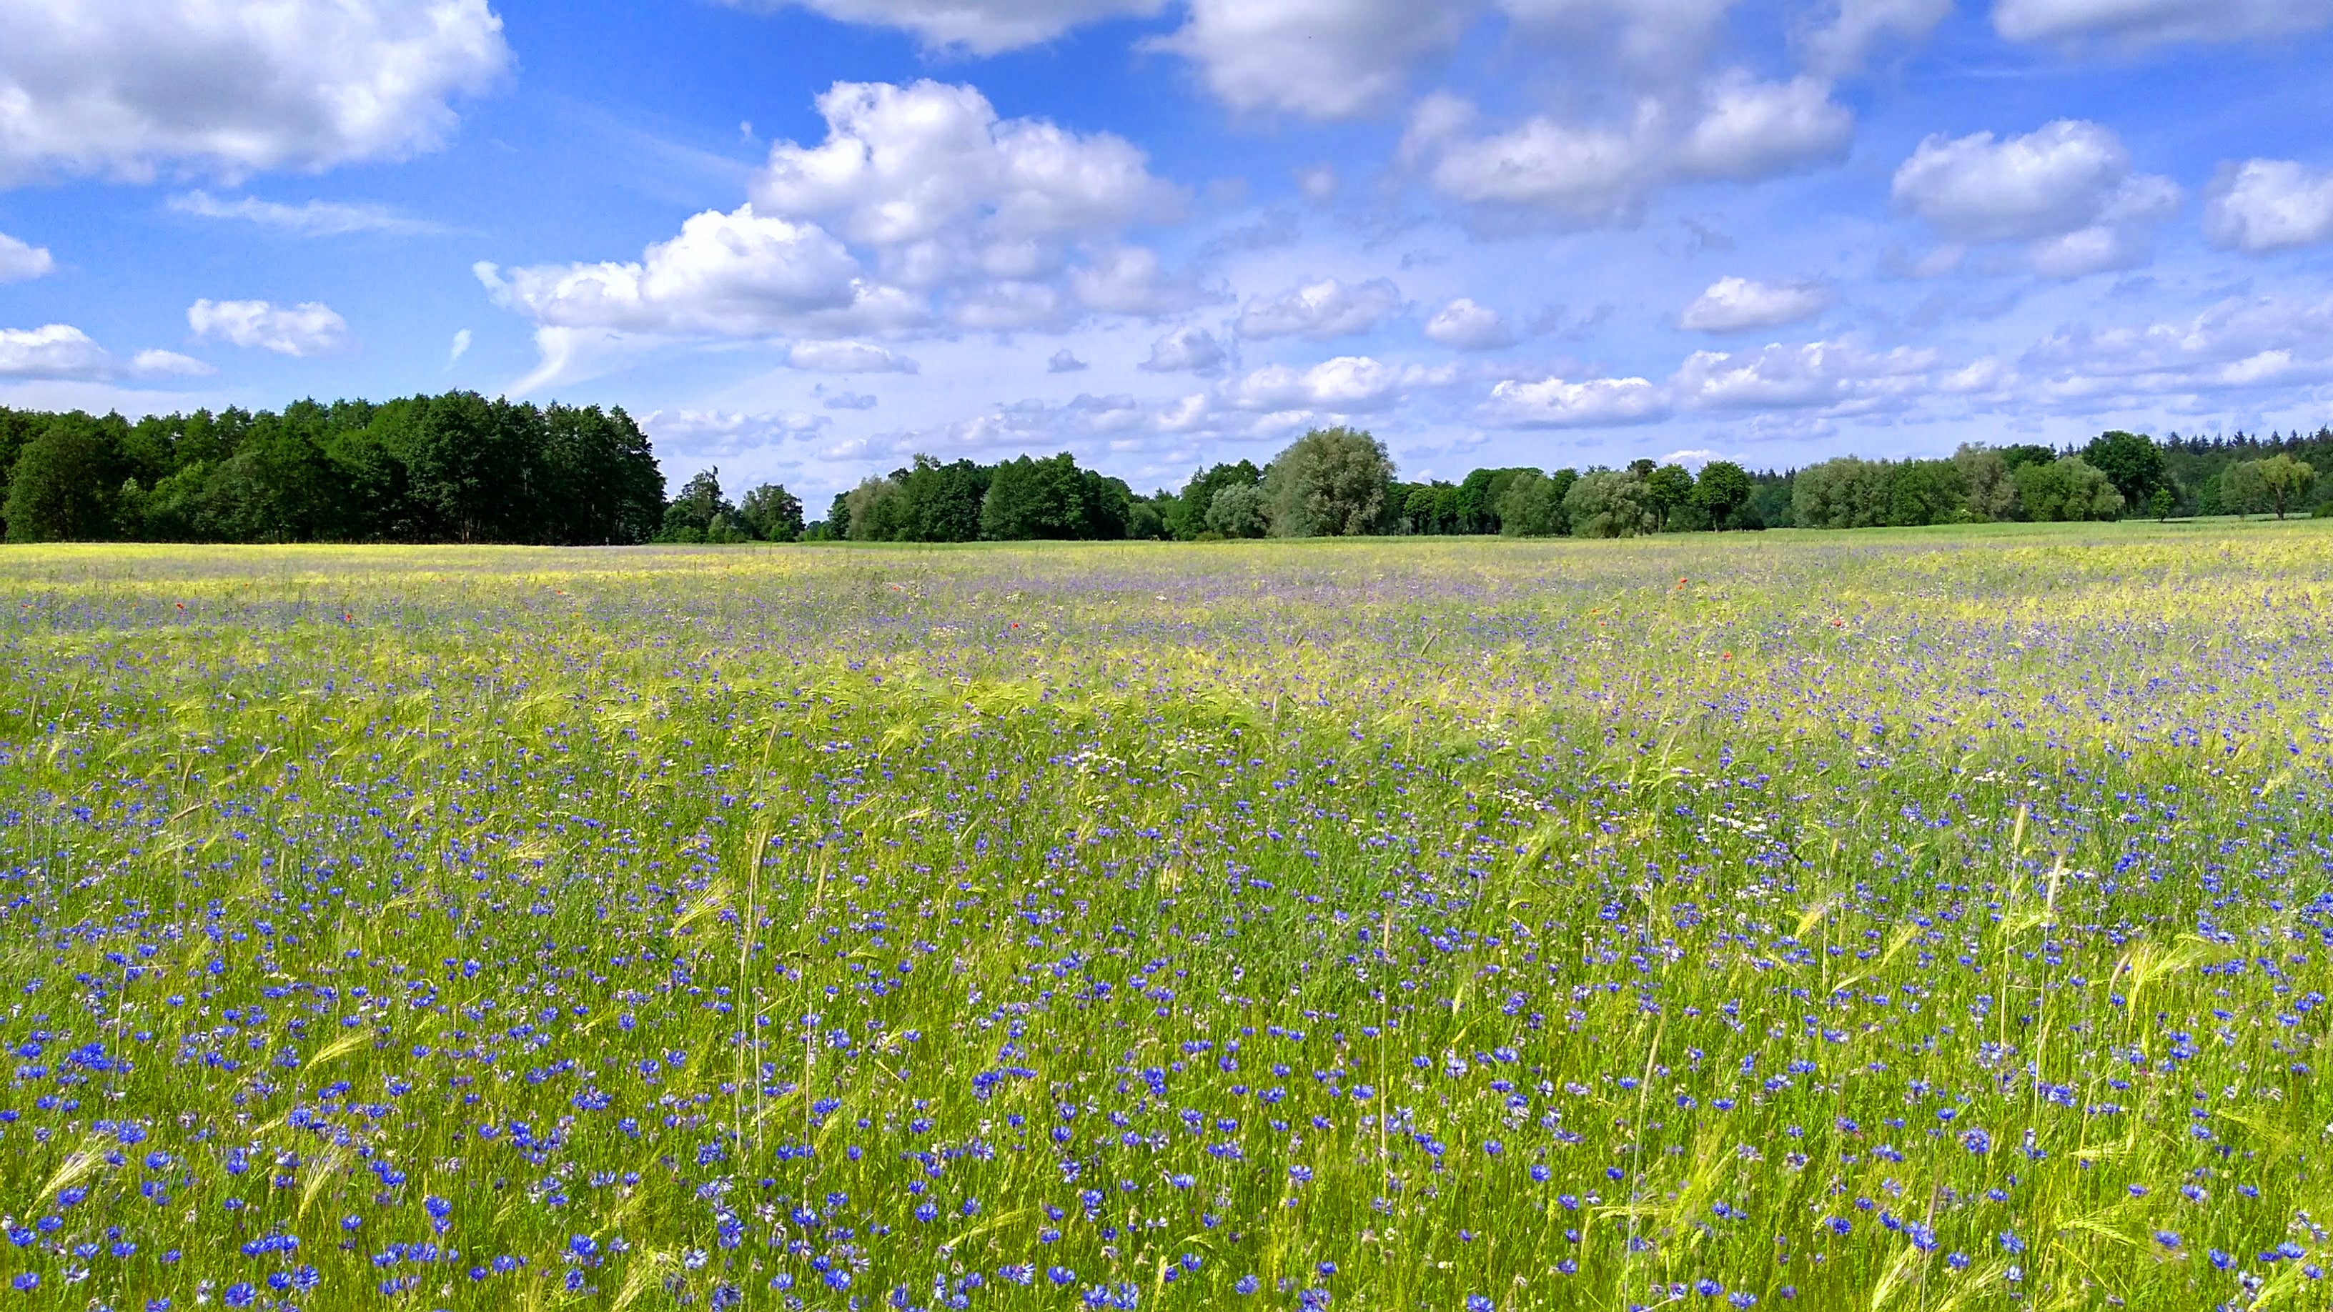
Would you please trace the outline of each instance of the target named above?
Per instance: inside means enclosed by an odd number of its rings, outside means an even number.
[[[1395,100],[1472,16],[1463,0],[1190,0],[1183,28],[1153,47],[1194,61],[1234,110],[1346,119]]]

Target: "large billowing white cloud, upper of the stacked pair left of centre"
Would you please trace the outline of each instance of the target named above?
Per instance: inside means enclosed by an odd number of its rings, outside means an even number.
[[[754,201],[770,215],[831,222],[854,243],[966,229],[989,243],[1092,236],[1180,205],[1127,140],[999,119],[971,86],[838,82],[819,96],[819,114],[826,140],[777,142]]]

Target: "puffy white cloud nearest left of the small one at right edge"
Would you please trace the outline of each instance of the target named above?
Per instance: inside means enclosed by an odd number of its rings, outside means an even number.
[[[2179,205],[2177,184],[2135,173],[2121,138],[2079,119],[2004,140],[1932,135],[1897,168],[1892,196],[1948,240],[2030,243],[2051,278],[2144,264]]]

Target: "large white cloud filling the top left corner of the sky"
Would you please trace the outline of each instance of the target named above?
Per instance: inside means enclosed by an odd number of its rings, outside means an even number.
[[[509,61],[485,0],[12,0],[0,180],[397,159]]]

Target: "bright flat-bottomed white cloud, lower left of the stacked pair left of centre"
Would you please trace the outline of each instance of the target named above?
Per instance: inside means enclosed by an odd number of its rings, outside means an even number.
[[[922,308],[859,275],[859,261],[817,224],[754,205],[705,210],[639,261],[476,266],[488,292],[548,327],[644,334],[770,336],[905,327]]]

